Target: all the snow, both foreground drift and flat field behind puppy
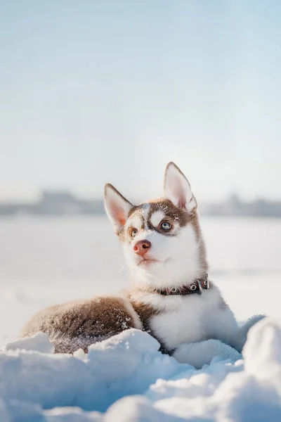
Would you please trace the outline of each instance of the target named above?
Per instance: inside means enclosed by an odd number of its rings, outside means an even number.
[[[211,279],[237,318],[281,316],[281,221],[202,218],[202,230]],[[41,307],[126,286],[107,219],[0,219],[0,238],[0,347]],[[139,331],[75,357],[46,353],[44,335],[8,345],[0,354],[0,421],[281,421],[277,319],[252,328],[244,360],[215,357],[197,371],[157,350]],[[219,354],[228,352],[221,345]]]

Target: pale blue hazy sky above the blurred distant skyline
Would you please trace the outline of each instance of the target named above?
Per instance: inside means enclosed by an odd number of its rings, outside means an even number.
[[[281,198],[278,0],[0,1],[0,200]]]

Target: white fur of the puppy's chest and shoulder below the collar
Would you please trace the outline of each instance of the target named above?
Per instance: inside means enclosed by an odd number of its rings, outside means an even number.
[[[185,296],[162,296],[139,293],[136,300],[152,305],[162,312],[152,317],[151,328],[168,349],[183,343],[195,343],[216,338],[237,346],[239,328],[229,307],[221,307],[221,295],[216,286]]]

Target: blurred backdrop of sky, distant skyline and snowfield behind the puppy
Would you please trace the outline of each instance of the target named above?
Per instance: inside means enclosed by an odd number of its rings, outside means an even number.
[[[237,317],[281,293],[281,4],[0,3],[0,345],[45,305],[126,286],[103,186],[199,203]]]

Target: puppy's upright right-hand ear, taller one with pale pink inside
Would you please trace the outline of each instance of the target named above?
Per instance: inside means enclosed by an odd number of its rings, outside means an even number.
[[[189,181],[174,162],[169,162],[166,166],[164,195],[176,207],[184,208],[188,212],[194,212],[197,208],[197,202],[191,191]]]

